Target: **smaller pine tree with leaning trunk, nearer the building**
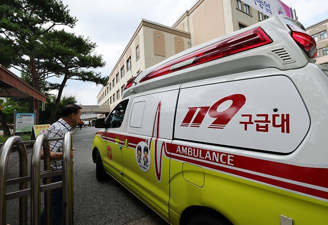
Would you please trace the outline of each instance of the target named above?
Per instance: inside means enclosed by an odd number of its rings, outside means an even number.
[[[81,80],[105,85],[108,78],[103,78],[92,68],[103,67],[105,62],[102,55],[94,53],[96,43],[89,38],[77,36],[64,30],[53,30],[43,35],[41,52],[46,52],[44,67],[63,80],[58,89],[55,106],[52,109],[50,121],[55,121],[56,111],[67,80]]]

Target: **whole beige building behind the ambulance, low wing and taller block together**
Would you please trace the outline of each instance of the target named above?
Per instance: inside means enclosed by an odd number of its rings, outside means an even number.
[[[98,105],[115,107],[127,81],[139,71],[189,47],[268,18],[241,0],[198,0],[172,25],[142,19],[97,95]]]

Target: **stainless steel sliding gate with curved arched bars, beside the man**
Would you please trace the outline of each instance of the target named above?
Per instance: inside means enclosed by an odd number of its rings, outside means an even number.
[[[63,140],[63,170],[50,171],[50,141]],[[31,176],[27,176],[27,154],[25,144],[34,142],[31,155]],[[13,146],[17,146],[19,154],[19,178],[6,180],[8,158]],[[40,173],[40,157],[43,149],[44,172]],[[19,224],[27,224],[27,196],[31,195],[31,224],[40,224],[40,193],[44,192],[45,224],[51,224],[51,190],[63,187],[63,224],[74,223],[73,203],[73,162],[72,134],[67,132],[64,138],[48,139],[46,135],[38,135],[35,141],[22,141],[12,136],[0,149],[0,225],[6,224],[6,201],[19,198]],[[63,181],[51,183],[51,177],[63,176]],[[43,185],[40,185],[40,179]],[[30,189],[27,182],[31,182]],[[19,184],[19,191],[6,193],[6,186]]]

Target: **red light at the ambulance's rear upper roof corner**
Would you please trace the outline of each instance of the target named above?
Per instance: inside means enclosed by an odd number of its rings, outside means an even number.
[[[296,25],[288,25],[291,29],[293,40],[305,51],[310,58],[317,56],[317,44],[315,39],[305,30]]]

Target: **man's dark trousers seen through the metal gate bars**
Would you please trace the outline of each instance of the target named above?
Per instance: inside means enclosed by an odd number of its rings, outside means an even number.
[[[61,175],[51,178],[51,183],[62,181]],[[51,190],[51,224],[61,225],[63,214],[63,188]],[[44,210],[41,214],[41,225],[44,222]]]

